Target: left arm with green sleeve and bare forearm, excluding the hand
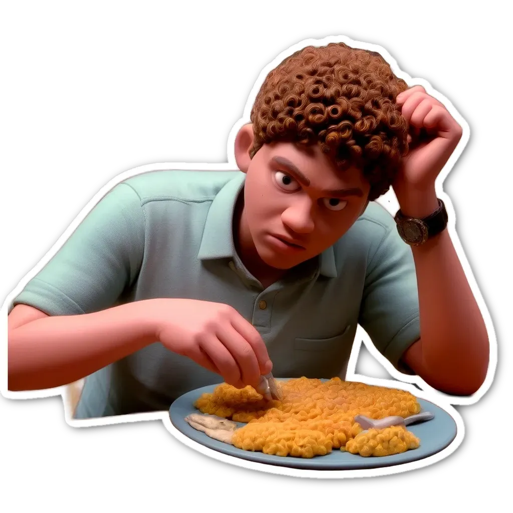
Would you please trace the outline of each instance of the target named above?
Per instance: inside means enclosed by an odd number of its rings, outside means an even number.
[[[65,385],[149,343],[140,304],[111,308],[130,290],[143,254],[141,201],[121,184],[15,298],[8,321],[11,390]]]

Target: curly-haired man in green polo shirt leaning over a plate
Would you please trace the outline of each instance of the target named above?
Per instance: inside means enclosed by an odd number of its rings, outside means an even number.
[[[236,137],[240,172],[126,180],[27,284],[9,314],[9,388],[87,376],[87,418],[167,409],[221,380],[257,386],[271,368],[344,378],[360,323],[398,369],[475,392],[488,338],[435,192],[461,135],[373,52],[295,53]],[[396,221],[373,202],[390,185]]]

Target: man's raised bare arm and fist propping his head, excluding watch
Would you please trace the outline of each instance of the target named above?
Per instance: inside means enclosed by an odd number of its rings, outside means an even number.
[[[397,97],[415,128],[408,154],[392,184],[405,215],[424,217],[438,207],[435,182],[463,130],[421,86]],[[410,137],[411,139],[411,137]],[[412,248],[419,288],[421,338],[404,361],[427,383],[446,393],[469,395],[483,384],[489,341],[481,312],[447,230]]]

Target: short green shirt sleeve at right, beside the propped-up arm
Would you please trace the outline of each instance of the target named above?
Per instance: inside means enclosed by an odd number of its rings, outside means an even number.
[[[411,249],[393,228],[369,262],[359,322],[396,369],[412,374],[400,360],[420,338],[417,276]]]

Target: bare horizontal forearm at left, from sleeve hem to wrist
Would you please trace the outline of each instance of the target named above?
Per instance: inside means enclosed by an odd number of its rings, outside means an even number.
[[[9,390],[66,385],[155,342],[148,306],[46,317],[9,330]]]

